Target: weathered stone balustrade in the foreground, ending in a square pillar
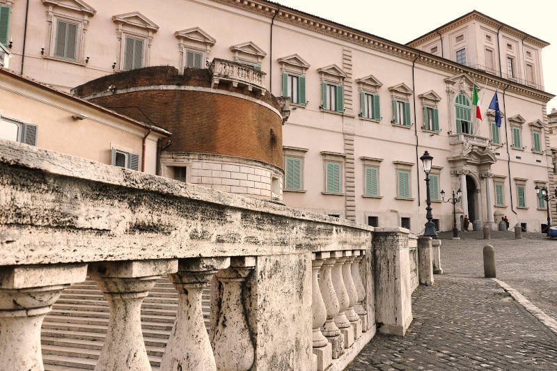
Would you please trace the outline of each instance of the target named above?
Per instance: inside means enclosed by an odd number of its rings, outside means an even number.
[[[91,276],[96,370],[151,370],[141,303],[168,275],[161,370],[342,370],[411,315],[409,235],[0,141],[0,370],[43,370],[42,317]],[[201,293],[212,287],[210,331]]]

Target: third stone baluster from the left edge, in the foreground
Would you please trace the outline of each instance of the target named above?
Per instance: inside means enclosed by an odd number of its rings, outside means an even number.
[[[230,258],[184,259],[179,262],[178,272],[168,275],[179,293],[178,313],[162,356],[161,370],[217,370],[201,299],[212,276],[229,266]]]

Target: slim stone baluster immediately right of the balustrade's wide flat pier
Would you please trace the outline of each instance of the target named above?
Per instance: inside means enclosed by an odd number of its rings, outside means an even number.
[[[332,361],[332,348],[327,338],[323,336],[321,327],[327,320],[327,308],[321,296],[318,271],[323,265],[324,259],[329,258],[329,253],[312,254],[311,261],[311,310],[313,312],[313,354],[317,357],[317,371],[324,371]]]

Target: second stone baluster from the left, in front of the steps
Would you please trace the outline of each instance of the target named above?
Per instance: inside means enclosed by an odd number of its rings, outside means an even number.
[[[176,259],[89,265],[89,275],[110,306],[107,337],[95,370],[151,370],[141,331],[141,303],[160,275],[177,270]]]

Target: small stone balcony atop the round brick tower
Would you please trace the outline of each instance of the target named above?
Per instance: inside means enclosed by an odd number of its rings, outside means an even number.
[[[265,89],[265,72],[256,70],[249,65],[214,58],[209,70],[212,74],[212,87],[225,81],[234,88],[246,88],[248,91],[260,90],[261,95],[265,95],[267,91]]]

